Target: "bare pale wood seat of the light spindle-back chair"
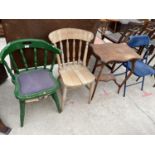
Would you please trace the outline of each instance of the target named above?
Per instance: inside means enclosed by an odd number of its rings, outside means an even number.
[[[59,72],[63,83],[67,87],[87,85],[95,80],[95,76],[88,68],[79,64],[66,65]]]

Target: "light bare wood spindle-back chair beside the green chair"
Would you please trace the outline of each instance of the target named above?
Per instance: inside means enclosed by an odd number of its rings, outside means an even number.
[[[50,41],[63,51],[61,56],[57,55],[59,77],[63,83],[62,107],[69,87],[87,86],[89,103],[91,101],[95,76],[86,67],[86,59],[93,38],[92,32],[76,28],[62,28],[49,34]]]

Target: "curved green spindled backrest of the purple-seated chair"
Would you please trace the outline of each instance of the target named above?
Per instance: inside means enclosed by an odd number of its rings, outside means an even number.
[[[44,65],[43,65],[44,69],[46,69],[46,66],[47,66],[48,52],[53,53],[50,70],[53,69],[56,54],[61,53],[61,50],[57,49],[53,45],[51,45],[48,42],[41,40],[41,39],[18,39],[18,40],[8,43],[6,45],[6,47],[4,49],[2,49],[2,51],[0,53],[0,63],[3,63],[5,65],[5,67],[7,68],[8,72],[10,73],[10,75],[12,77],[12,80],[14,80],[14,78],[15,78],[14,73],[16,73],[16,74],[20,73],[18,65],[17,65],[17,63],[14,59],[14,56],[13,56],[13,54],[15,52],[19,52],[24,69],[29,70],[29,64],[25,57],[26,49],[32,49],[32,51],[33,51],[35,69],[38,68],[38,58],[37,57],[38,57],[39,49],[42,49],[44,51]],[[10,56],[10,60],[11,60],[11,68],[5,61],[5,58],[8,55]],[[13,70],[14,70],[14,73],[13,73]]]

